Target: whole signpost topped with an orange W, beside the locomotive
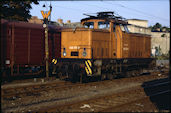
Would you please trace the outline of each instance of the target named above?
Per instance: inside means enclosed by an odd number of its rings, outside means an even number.
[[[46,78],[49,79],[49,47],[48,47],[48,17],[51,13],[51,10],[48,13],[41,11],[44,18],[43,27],[45,28],[45,62],[46,62]]]

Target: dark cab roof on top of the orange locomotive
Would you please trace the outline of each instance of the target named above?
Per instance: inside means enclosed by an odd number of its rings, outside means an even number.
[[[120,16],[117,17],[114,15],[114,12],[110,12],[110,11],[109,12],[98,12],[96,16],[92,16],[92,15],[88,15],[88,14],[84,14],[84,15],[87,15],[89,17],[81,19],[81,23],[86,22],[88,20],[96,19],[96,20],[111,21],[111,22],[118,23],[118,24],[128,24],[127,21],[123,20],[124,18],[122,18]]]

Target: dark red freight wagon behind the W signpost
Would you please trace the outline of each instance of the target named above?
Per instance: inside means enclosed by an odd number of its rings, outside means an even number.
[[[61,27],[49,25],[49,63],[61,56]],[[37,75],[44,72],[45,37],[41,24],[1,19],[2,77]],[[49,65],[51,66],[51,65]]]

